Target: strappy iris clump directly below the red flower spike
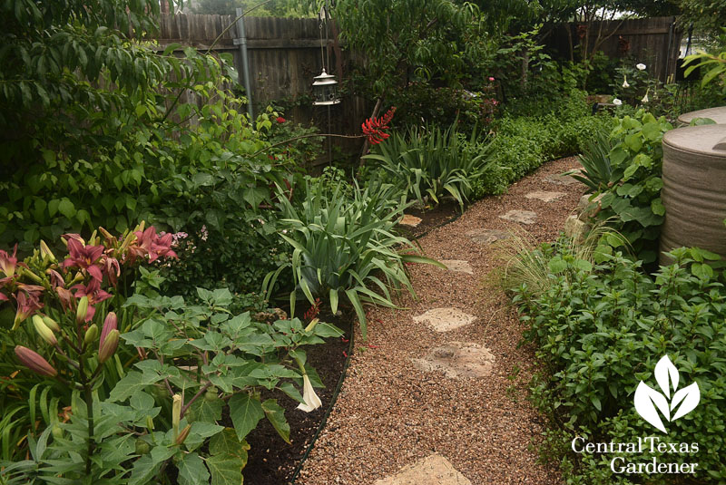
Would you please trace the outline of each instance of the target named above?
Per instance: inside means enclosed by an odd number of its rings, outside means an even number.
[[[429,125],[394,133],[363,158],[378,160],[408,198],[438,203],[448,194],[464,210],[472,183],[486,171],[490,151],[486,142],[478,141],[476,130],[468,141],[462,140],[455,123],[446,130]]]

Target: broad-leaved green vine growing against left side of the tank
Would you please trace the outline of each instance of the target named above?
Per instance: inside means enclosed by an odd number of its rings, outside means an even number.
[[[672,130],[664,117],[655,119],[640,110],[625,116],[610,134],[611,174],[603,193],[602,208],[596,214],[608,220],[633,247],[636,257],[652,263],[657,255],[657,242],[665,209],[661,202],[662,136]]]

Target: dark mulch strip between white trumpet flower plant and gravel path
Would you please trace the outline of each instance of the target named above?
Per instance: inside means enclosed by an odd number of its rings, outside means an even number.
[[[334,317],[320,315],[320,320],[337,325],[346,332],[345,339],[350,338],[350,315]],[[290,441],[286,443],[267,420],[260,424],[247,436],[250,444],[249,461],[242,474],[245,485],[287,485],[292,480],[310,441],[318,431],[320,422],[328,411],[330,399],[338,385],[340,374],[345,364],[348,343],[341,338],[330,338],[325,344],[311,345],[305,348],[308,362],[318,371],[325,384],[324,389],[316,389],[323,405],[313,412],[302,412],[298,403],[284,393],[272,393],[265,398],[276,398],[280,406],[285,408],[285,417],[289,422]],[[229,425],[229,424],[228,424]]]

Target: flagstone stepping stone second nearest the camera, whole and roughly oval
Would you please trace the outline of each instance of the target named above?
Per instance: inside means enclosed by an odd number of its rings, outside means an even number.
[[[449,379],[486,377],[494,368],[494,355],[479,344],[449,342],[435,348],[423,359],[414,359],[419,371],[443,372]]]

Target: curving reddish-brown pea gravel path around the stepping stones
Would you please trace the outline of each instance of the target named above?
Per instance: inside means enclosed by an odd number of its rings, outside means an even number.
[[[419,240],[427,256],[464,260],[473,275],[417,265],[411,270],[417,301],[408,299],[404,310],[370,311],[370,347],[357,335],[338,403],[299,485],[373,485],[434,453],[475,485],[562,481],[554,468],[537,462],[531,446],[544,429],[526,400],[535,372],[533,350],[517,348],[523,327],[516,312],[498,288],[486,284],[497,265],[491,247],[466,233],[524,228],[538,241],[553,240],[584,193],[584,186],[564,184],[556,175],[577,166],[574,158],[546,163],[507,194],[476,202],[461,218]],[[563,194],[544,201],[532,195],[536,191]],[[535,212],[535,222],[499,217],[515,209]],[[446,332],[414,322],[437,307],[454,307],[476,319]],[[452,342],[486,347],[489,358],[494,356],[488,375],[451,378],[413,364]]]

